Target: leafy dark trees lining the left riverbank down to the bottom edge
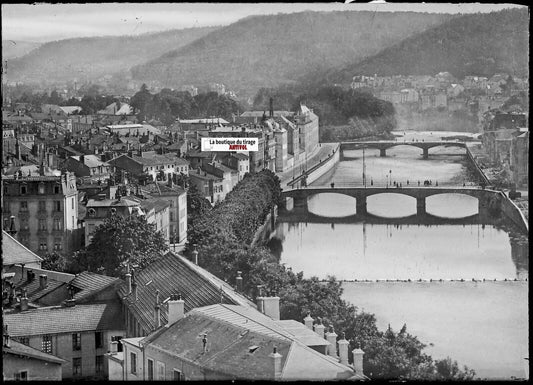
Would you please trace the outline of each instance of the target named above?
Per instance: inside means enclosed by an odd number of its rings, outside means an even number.
[[[194,196],[195,194],[193,194]],[[294,273],[279,263],[264,246],[250,247],[255,232],[278,204],[281,189],[278,177],[269,170],[247,174],[226,199],[213,209],[199,203],[196,196],[194,222],[189,229],[187,253],[198,251],[199,264],[236,284],[236,272],[241,271],[243,289],[249,296],[258,294],[257,286],[280,297],[282,319],[301,322],[312,314],[328,327],[344,332],[351,350],[365,351],[364,367],[375,379],[473,379],[475,372],[459,368],[456,361],[446,358],[433,360],[424,353],[425,344],[407,332],[390,327],[380,331],[373,314],[359,311],[342,299],[340,282],[329,277],[306,279],[303,272]],[[278,245],[279,247],[279,245]],[[350,358],[351,359],[351,358]]]

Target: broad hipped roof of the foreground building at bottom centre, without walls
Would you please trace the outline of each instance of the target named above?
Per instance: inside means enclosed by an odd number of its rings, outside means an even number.
[[[305,346],[276,321],[237,305],[194,309],[147,336],[142,344],[236,379],[273,379],[269,354],[274,346],[282,356],[283,380],[348,379],[355,375],[352,368]]]

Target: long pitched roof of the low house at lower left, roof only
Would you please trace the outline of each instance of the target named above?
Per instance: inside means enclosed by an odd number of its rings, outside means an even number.
[[[5,314],[13,337],[61,334],[92,330],[122,330],[120,304],[115,302],[73,307],[47,307]]]

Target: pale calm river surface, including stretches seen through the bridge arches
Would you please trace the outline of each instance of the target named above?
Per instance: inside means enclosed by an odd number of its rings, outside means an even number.
[[[405,138],[438,140],[444,135],[454,133],[406,133]],[[476,184],[464,153],[439,147],[424,160],[422,150],[415,147],[388,149],[387,157],[366,150],[366,180],[374,185],[429,179],[443,186]],[[361,185],[362,150],[344,155],[312,185]],[[355,213],[355,200],[320,194],[309,198],[308,207],[313,214],[338,218]],[[367,210],[380,217],[407,217],[416,214],[416,200],[399,194],[370,196]],[[468,217],[477,213],[477,199],[433,196],[426,211],[442,218]],[[527,236],[513,226],[418,225],[401,220],[313,223],[312,218],[293,223],[281,216],[272,237],[281,243],[282,263],[306,277],[333,275],[345,281],[347,301],[376,314],[382,329],[390,324],[399,330],[407,323],[410,333],[431,344],[427,352],[434,358],[450,356],[480,378],[525,376],[529,251]]]

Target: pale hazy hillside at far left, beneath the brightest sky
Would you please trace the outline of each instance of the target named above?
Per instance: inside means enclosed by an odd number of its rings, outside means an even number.
[[[189,28],[138,36],[58,40],[9,62],[10,81],[89,80],[126,72],[161,54],[185,46],[218,27]]]

